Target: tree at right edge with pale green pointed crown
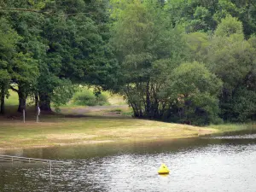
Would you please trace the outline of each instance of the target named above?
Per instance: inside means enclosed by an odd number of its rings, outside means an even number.
[[[242,87],[247,84],[255,66],[255,50],[244,39],[241,22],[230,16],[222,20],[209,48],[208,67],[224,82],[220,96],[221,117],[225,120],[241,119],[238,112],[241,107],[236,105],[240,105],[238,101],[242,97],[247,97],[247,91],[242,93],[241,90],[244,90]],[[252,95],[250,91],[248,94]],[[249,116],[243,114],[243,119]]]

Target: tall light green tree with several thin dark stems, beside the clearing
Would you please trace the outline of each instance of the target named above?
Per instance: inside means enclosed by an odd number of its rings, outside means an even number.
[[[161,91],[166,84],[164,74],[184,55],[181,32],[173,28],[157,1],[134,0],[118,6],[113,12],[112,44],[121,69],[120,92],[135,117],[162,119],[169,106],[168,96]]]

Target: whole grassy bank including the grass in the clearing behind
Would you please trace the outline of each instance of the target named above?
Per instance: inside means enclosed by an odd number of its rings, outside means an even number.
[[[0,117],[0,149],[41,148],[50,146],[151,141],[198,137],[206,134],[255,130],[253,124],[227,124],[196,127],[132,119],[131,108],[117,105],[121,98],[111,97],[110,106],[61,107],[61,113],[42,113],[36,123],[34,108],[27,108],[26,123],[16,113],[15,96],[7,101],[7,114]],[[124,103],[122,103],[124,104]]]

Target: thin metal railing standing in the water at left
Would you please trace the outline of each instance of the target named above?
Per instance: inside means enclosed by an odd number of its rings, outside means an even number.
[[[35,158],[28,158],[28,157],[19,157],[19,156],[9,156],[9,155],[0,155],[0,161],[4,162],[15,162],[15,161],[20,161],[20,162],[40,162],[40,163],[49,163],[49,175],[51,177],[51,169],[52,169],[52,164],[53,163],[65,163],[65,164],[70,164],[70,162],[65,162],[65,161],[59,161],[59,160],[43,160],[43,159],[35,159]]]

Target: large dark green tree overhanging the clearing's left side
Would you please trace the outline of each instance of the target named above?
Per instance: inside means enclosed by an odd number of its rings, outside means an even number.
[[[52,7],[52,5],[51,5]],[[66,103],[73,84],[93,84],[107,89],[117,67],[108,46],[108,1],[61,1],[54,12],[64,17],[45,20],[42,32],[49,49],[40,67],[40,107]],[[64,96],[63,96],[64,95]]]

